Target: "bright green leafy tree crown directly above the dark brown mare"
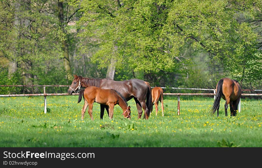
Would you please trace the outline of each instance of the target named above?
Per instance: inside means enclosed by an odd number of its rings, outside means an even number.
[[[99,67],[117,71],[177,70],[176,62],[163,50],[161,30],[170,2],[82,1],[81,37],[91,37],[100,50],[92,56]],[[85,26],[83,26],[85,25]]]

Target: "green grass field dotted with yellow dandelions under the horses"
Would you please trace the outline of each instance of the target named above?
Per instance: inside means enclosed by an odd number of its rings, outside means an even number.
[[[113,120],[94,103],[91,121],[88,112],[81,120],[84,101],[78,96],[0,98],[0,147],[262,147],[262,100],[241,99],[236,117],[211,115],[212,97],[164,96],[164,117],[137,120],[134,100],[131,120],[124,119],[116,105]],[[161,108],[159,108],[160,110]]]

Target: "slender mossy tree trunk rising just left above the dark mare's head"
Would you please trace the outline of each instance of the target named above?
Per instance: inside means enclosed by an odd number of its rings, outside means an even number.
[[[64,21],[64,11],[63,11],[63,1],[57,1],[57,7],[58,7],[58,19],[59,19],[59,26],[61,30],[63,31],[64,35],[66,36],[66,30],[65,30],[65,21]],[[69,52],[68,52],[68,43],[66,39],[62,40],[62,50],[64,52],[63,62],[64,67],[66,70],[66,77],[68,80],[73,80],[73,75],[71,72],[71,65],[69,60]]]

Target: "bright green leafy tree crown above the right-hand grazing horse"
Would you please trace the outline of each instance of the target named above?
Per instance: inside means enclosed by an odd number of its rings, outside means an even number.
[[[174,1],[165,28],[171,53],[192,47],[196,52],[208,53],[214,73],[221,67],[223,76],[255,80],[255,73],[261,74],[257,36],[250,25],[236,19],[243,2],[234,6],[235,2]]]

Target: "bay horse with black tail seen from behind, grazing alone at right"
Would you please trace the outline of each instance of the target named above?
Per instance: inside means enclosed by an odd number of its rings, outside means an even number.
[[[238,103],[240,101],[242,89],[237,80],[230,78],[222,78],[216,85],[216,99],[213,103],[213,114],[217,110],[217,117],[219,116],[219,104],[221,97],[226,101],[225,103],[225,116],[227,116],[227,107],[230,105],[230,115],[236,116],[238,110]]]

